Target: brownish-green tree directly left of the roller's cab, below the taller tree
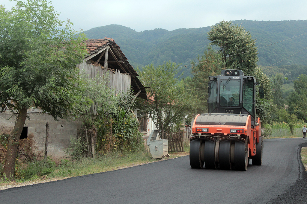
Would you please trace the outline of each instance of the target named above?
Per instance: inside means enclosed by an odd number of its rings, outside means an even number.
[[[193,78],[188,81],[188,84],[195,90],[194,93],[200,100],[197,113],[205,113],[208,111],[208,77],[221,74],[221,70],[225,68],[225,63],[221,59],[221,55],[211,46],[208,46],[204,54],[198,56],[197,60],[197,63],[194,61],[191,62]]]

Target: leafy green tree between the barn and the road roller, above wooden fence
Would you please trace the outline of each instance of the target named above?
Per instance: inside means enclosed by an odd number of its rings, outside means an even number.
[[[175,63],[166,62],[156,68],[149,65],[142,72],[138,70],[142,84],[149,87],[146,89],[148,101],[138,100],[138,108],[153,120],[162,138],[174,123],[180,123],[196,107],[194,95],[178,86],[177,68]]]

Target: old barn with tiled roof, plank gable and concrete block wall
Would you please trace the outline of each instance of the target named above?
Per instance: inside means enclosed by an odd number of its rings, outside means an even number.
[[[129,86],[132,86],[136,97],[147,99],[145,88],[138,79],[138,74],[113,39],[91,39],[85,41],[85,44],[88,56],[83,63],[77,65],[81,71],[91,78],[96,74],[99,76],[107,74],[109,76],[108,84],[114,88],[114,94],[126,91]],[[12,115],[8,110],[0,114],[0,134],[8,134],[13,130],[16,117]],[[27,115],[30,120],[25,122],[21,139],[33,139],[34,151],[44,156],[46,124],[48,123],[47,156],[67,157],[65,150],[68,148],[69,139],[71,136],[77,136],[82,123],[67,120],[55,121],[47,113],[42,113],[40,109],[28,109]]]

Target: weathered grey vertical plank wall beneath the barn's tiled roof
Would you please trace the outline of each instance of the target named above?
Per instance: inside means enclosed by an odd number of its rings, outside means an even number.
[[[120,93],[121,91],[126,92],[127,89],[130,87],[131,76],[126,73],[120,73],[119,70],[112,71],[109,69],[105,69],[103,66],[94,66],[86,62],[79,64],[78,67],[80,71],[84,70],[84,74],[86,74],[88,78],[94,78],[97,74],[99,74],[100,77],[103,77],[103,75],[108,74],[109,80],[107,84],[109,85],[109,87],[115,90],[115,95]]]

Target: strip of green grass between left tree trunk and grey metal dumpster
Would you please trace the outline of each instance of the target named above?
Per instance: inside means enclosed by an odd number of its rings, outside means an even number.
[[[78,158],[75,160],[62,159],[57,164],[50,158],[35,160],[18,165],[15,181],[26,182],[44,179],[56,179],[62,177],[74,177],[87,174],[106,172],[157,161],[151,158],[150,153],[142,150],[136,152],[99,154],[93,158]],[[0,178],[0,184],[7,183]]]

